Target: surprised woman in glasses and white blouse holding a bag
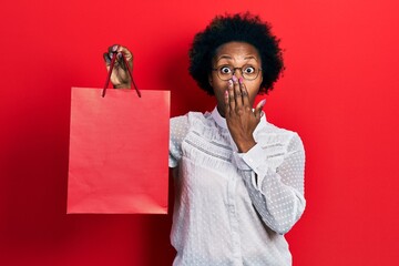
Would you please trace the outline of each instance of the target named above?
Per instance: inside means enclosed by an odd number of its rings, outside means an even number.
[[[284,238],[305,209],[299,136],[266,121],[255,96],[284,69],[278,40],[258,17],[216,17],[195,35],[190,74],[215,95],[211,113],[171,119],[175,175],[173,265],[291,265]],[[110,50],[131,52],[123,47]],[[104,54],[110,62],[110,53]],[[115,88],[130,88],[123,64]]]

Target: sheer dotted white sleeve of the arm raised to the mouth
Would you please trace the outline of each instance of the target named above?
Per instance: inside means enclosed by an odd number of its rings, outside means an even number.
[[[283,162],[272,167],[270,156],[258,143],[247,153],[235,154],[253,205],[273,231],[285,234],[305,211],[304,172],[305,151],[300,137],[290,139]],[[272,155],[273,156],[273,155]]]

